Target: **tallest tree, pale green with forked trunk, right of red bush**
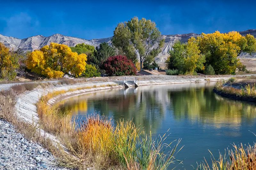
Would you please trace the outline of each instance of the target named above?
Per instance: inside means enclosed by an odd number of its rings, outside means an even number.
[[[156,23],[145,18],[139,20],[138,17],[134,17],[128,22],[119,23],[114,31],[112,42],[133,63],[136,63],[136,54],[138,54],[140,70],[142,70],[144,60],[147,58],[148,61],[153,62],[164,45],[164,39],[161,39],[161,33],[156,28]]]

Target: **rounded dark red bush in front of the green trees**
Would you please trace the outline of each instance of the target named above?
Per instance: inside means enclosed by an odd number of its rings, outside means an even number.
[[[102,69],[106,70],[109,76],[136,75],[136,68],[132,60],[128,60],[126,56],[122,55],[108,57],[102,64]]]

